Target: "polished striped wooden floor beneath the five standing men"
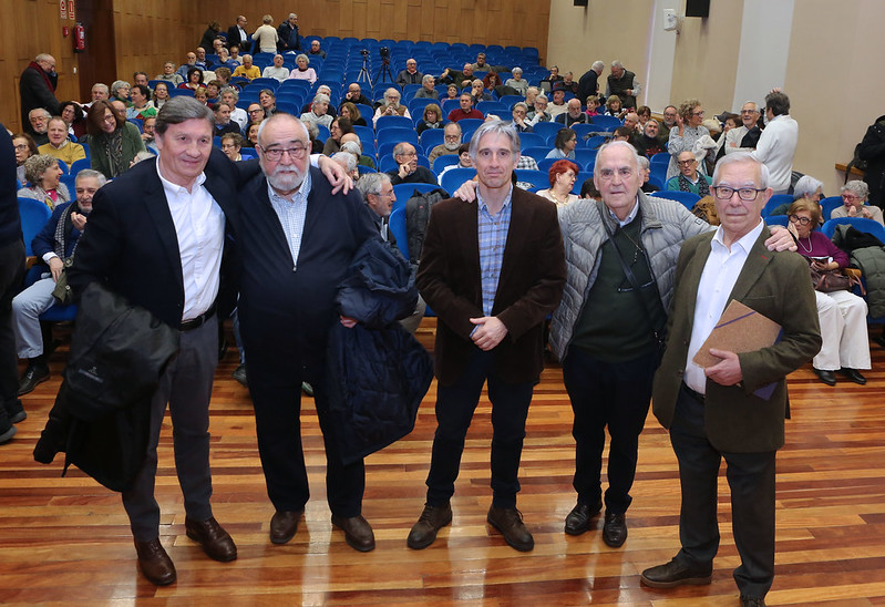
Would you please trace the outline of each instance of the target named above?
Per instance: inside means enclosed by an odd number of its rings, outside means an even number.
[[[419,339],[432,344],[425,319]],[[878,329],[876,329],[878,331]],[[63,331],[62,331],[63,333]],[[56,331],[58,335],[58,331]],[[64,336],[62,335],[62,339]],[[790,377],[793,419],[778,456],[778,570],[772,605],[885,605],[885,351],[873,344],[866,387],[820,383],[806,367]],[[306,523],[285,546],[268,541],[272,508],[265,493],[248,392],[233,379],[236,356],[222,361],[212,403],[213,505],[239,558],[206,558],[184,533],[184,508],[168,423],[161,439],[157,498],[161,536],[178,570],[156,588],[136,568],[119,495],[72,470],[60,477],[31,459],[59,387],[65,346],[52,379],[24,399],[28,419],[0,447],[0,603],[18,605],[172,603],[183,605],[737,605],[738,556],[721,479],[722,543],[713,583],[650,590],[639,573],[678,549],[679,482],[667,434],[649,415],[628,513],[630,535],[608,548],[599,529],[563,533],[574,505],[572,412],[556,366],[545,370],[529,412],[519,508],[535,549],[506,546],[485,523],[490,408],[483,401],[467,438],[453,500],[454,521],[436,543],[405,546],[421,512],[434,431],[431,387],[414,432],[367,460],[364,516],[378,547],[361,554],[332,531],[325,502],[325,455],[312,401],[303,434],[312,498]],[[598,525],[601,525],[599,523]],[[598,526],[597,525],[597,526]]]

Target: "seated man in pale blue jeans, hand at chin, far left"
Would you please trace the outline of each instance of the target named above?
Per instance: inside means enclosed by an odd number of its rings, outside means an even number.
[[[39,280],[12,300],[16,351],[20,359],[28,360],[28,367],[19,379],[19,397],[32,392],[37,384],[49,379],[40,315],[55,304],[52,295],[55,282],[73,260],[76,241],[92,210],[92,197],[105,181],[104,175],[96,171],[81,171],[75,182],[76,198],[70,203],[60,202],[33,239],[33,254],[45,264],[40,266],[43,272]]]

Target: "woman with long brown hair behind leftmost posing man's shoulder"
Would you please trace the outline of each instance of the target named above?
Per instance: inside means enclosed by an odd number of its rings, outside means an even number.
[[[135,154],[145,151],[138,127],[126,122],[125,114],[111,103],[93,103],[88,120],[92,168],[109,179],[128,169]]]

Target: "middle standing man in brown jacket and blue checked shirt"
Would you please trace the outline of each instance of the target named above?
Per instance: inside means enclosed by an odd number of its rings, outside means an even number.
[[[544,367],[544,318],[565,284],[556,207],[515,188],[519,135],[482,124],[471,141],[477,200],[436,203],[424,239],[418,287],[438,315],[436,434],[426,504],[408,545],[430,546],[452,519],[464,436],[483,384],[492,400],[492,507],[487,521],[518,551],[534,539],[516,510],[517,479],[532,391]]]

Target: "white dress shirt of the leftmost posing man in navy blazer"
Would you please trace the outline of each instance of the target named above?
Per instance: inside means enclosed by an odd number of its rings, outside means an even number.
[[[192,320],[208,310],[218,297],[225,214],[203,187],[205,173],[199,174],[191,192],[187,192],[187,188],[163,177],[159,163],[156,169],[178,239],[184,281],[182,320]]]

